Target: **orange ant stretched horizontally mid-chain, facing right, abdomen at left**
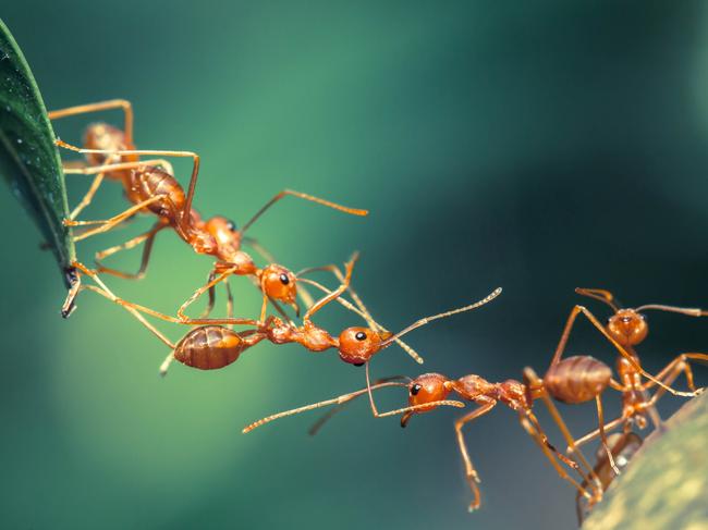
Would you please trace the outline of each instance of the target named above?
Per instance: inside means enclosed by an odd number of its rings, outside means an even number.
[[[491,301],[501,293],[501,288],[498,288],[478,303],[445,313],[420,319],[396,334],[387,332],[382,326],[377,324],[371,328],[347,328],[342,331],[338,337],[333,337],[326,330],[315,325],[310,319],[327,304],[340,298],[344,291],[349,288],[355,260],[356,255],[346,263],[345,275],[342,284],[335,291],[328,292],[326,296],[320,298],[307,310],[303,318],[302,326],[296,326],[292,322],[283,322],[276,317],[269,317],[265,321],[256,321],[253,319],[206,319],[198,320],[197,323],[206,323],[208,325],[195,328],[176,344],[167,340],[159,331],[149,324],[139,312],[146,312],[173,322],[180,322],[178,319],[163,316],[151,309],[118,298],[94,271],[87,269],[82,263],[75,263],[75,267],[86,275],[90,276],[99,285],[99,287],[84,285],[83,288],[94,291],[123,306],[171,349],[170,355],[160,367],[160,372],[162,374],[167,373],[169,365],[174,359],[183,365],[202,370],[223,368],[234,362],[245,349],[264,340],[268,340],[273,344],[297,343],[310,352],[325,352],[330,348],[337,348],[340,358],[344,362],[355,366],[367,363],[374,355],[387,348],[393,342],[399,342],[404,346],[406,352],[411,355],[417,356],[412,348],[407,347],[404,343],[401,343],[401,336],[431,322],[432,320],[480,307],[488,301]],[[313,285],[318,285],[316,282],[310,283]],[[359,312],[354,308],[352,309]],[[367,321],[373,320],[367,312],[365,315]],[[253,325],[254,329],[234,332],[217,324]]]

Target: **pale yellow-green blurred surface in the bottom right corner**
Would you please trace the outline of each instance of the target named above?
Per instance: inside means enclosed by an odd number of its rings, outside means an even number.
[[[608,489],[583,530],[708,529],[708,394],[655,432]]]

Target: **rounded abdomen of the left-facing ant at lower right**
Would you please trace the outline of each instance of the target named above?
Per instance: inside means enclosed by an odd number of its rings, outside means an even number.
[[[607,389],[612,370],[589,355],[566,357],[551,366],[544,378],[550,395],[563,403],[584,403],[594,399]]]

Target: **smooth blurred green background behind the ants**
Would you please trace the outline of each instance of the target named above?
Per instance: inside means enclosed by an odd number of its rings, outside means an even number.
[[[284,187],[369,208],[358,219],[289,199],[252,235],[293,270],[359,249],[355,285],[387,326],[504,287],[483,310],[412,334],[424,367],[391,348],[377,375],[542,371],[576,286],[613,289],[630,306],[708,306],[704,2],[25,0],[0,16],[48,108],[127,98],[138,146],[198,151],[204,214],[244,222]],[[86,123],[57,131],[78,143]],[[88,180],[70,181],[73,204]],[[4,528],[575,525],[574,492],[503,407],[466,431],[483,478],[474,515],[459,411],[402,430],[362,402],[315,439],[315,414],[242,435],[261,416],[359,387],[363,371],[333,353],[263,344],[228,369],[175,365],[160,380],[168,352],[120,308],[86,294],[69,321],[59,317],[51,256],[10,194],[0,205]],[[124,206],[109,183],[84,218]],[[82,244],[80,256],[90,261],[148,224]],[[145,281],[109,284],[174,311],[209,266],[161,234]],[[232,285],[239,311],[255,315],[255,289]],[[333,332],[358,323],[339,308],[318,322]],[[650,322],[640,353],[651,370],[708,348],[708,322]],[[570,352],[613,360],[585,323]],[[678,405],[666,402],[664,412]],[[591,407],[562,410],[576,433],[594,427]]]

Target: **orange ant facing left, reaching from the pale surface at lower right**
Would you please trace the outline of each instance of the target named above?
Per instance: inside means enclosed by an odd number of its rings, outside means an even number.
[[[364,394],[368,394],[374,417],[382,418],[401,414],[401,427],[406,427],[414,415],[428,412],[441,405],[464,407],[464,403],[460,400],[450,400],[448,398],[451,393],[454,393],[460,399],[472,402],[477,405],[476,409],[457,419],[454,423],[457,445],[464,461],[467,483],[473,493],[473,501],[469,504],[471,511],[480,506],[480,491],[477,485],[479,483],[479,476],[469,458],[463,435],[463,428],[465,424],[489,412],[499,403],[506,405],[512,410],[518,412],[518,419],[522,427],[538,444],[558,474],[562,479],[567,480],[577,490],[578,495],[587,498],[588,503],[595,504],[602,496],[601,481],[596,477],[593,467],[583,456],[582,452],[575,446],[575,440],[549,396],[556,397],[557,399],[564,398],[574,403],[591,399],[593,396],[598,393],[598,386],[603,390],[610,379],[609,368],[605,366],[605,369],[602,369],[602,366],[603,365],[600,361],[589,356],[569,357],[552,367],[544,380],[540,381],[540,384],[533,385],[515,380],[506,380],[501,383],[490,383],[476,374],[464,375],[460,379],[449,379],[440,373],[425,373],[413,380],[405,378],[408,379],[407,383],[394,381],[396,379],[404,379],[396,377],[383,381],[377,381],[371,384],[368,362],[366,362],[366,389],[344,394],[333,399],[327,399],[268,416],[245,427],[243,432],[251,432],[254,429],[279,418],[328,405],[337,405],[337,408],[332,409],[327,416],[320,419],[313,429],[310,429],[310,433],[315,433],[339,408]],[[578,367],[582,369],[578,370]],[[593,373],[594,377],[588,378],[588,373]],[[408,406],[387,412],[379,412],[374,402],[373,391],[388,386],[406,387],[408,391]],[[532,410],[535,398],[542,398],[556,424],[563,434],[563,437],[567,444],[574,448],[574,456],[577,460],[566,457],[551,445],[536,415]],[[601,420],[602,418],[600,417],[600,421]],[[577,471],[583,482],[578,482],[569,476],[561,463]],[[588,486],[588,484],[593,485]]]

